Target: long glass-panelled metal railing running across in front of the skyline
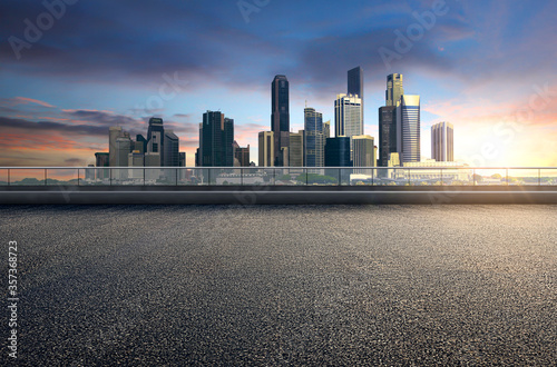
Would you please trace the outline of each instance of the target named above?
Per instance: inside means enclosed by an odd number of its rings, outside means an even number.
[[[60,175],[58,176],[56,172],[52,171],[77,171],[77,186],[89,186],[89,185],[131,185],[136,186],[138,182],[143,186],[147,185],[166,185],[166,181],[172,182],[172,185],[178,186],[180,182],[188,182],[188,180],[183,181],[183,179],[179,179],[179,172],[183,171],[193,171],[197,180],[201,179],[199,182],[194,182],[194,184],[186,184],[186,185],[218,185],[217,178],[227,178],[225,176],[222,176],[223,172],[218,171],[228,171],[233,176],[229,176],[234,179],[237,177],[241,178],[241,186],[248,185],[246,184],[246,175],[254,175],[254,172],[263,172],[263,177],[268,177],[272,176],[271,181],[264,180],[263,184],[255,184],[255,185],[271,185],[275,186],[277,185],[277,177],[276,175],[289,175],[292,173],[295,176],[295,173],[305,173],[305,179],[304,184],[305,186],[309,185],[334,185],[333,182],[329,181],[323,181],[321,184],[317,184],[315,181],[310,182],[310,177],[309,172],[310,170],[323,170],[325,171],[325,175],[329,176],[338,176],[336,179],[336,185],[352,185],[352,181],[358,181],[358,182],[363,182],[363,185],[377,185],[379,182],[379,186],[382,185],[390,185],[391,182],[405,182],[405,185],[428,185],[428,182],[431,182],[432,180],[439,180],[441,181],[440,185],[446,185],[444,180],[449,179],[449,185],[458,185],[461,182],[461,185],[473,185],[473,186],[479,186],[479,185],[500,185],[500,186],[509,186],[509,185],[536,185],[531,184],[531,179],[536,179],[537,186],[541,186],[541,177],[544,171],[547,170],[557,170],[557,167],[447,167],[447,166],[441,166],[441,167],[0,167],[0,172],[1,171],[7,171],[8,172],[8,181],[2,181],[2,185],[10,186],[10,185],[17,185],[17,186],[36,186],[37,184],[19,184],[21,182],[21,178],[18,180],[13,180],[12,173],[16,171],[26,171],[26,170],[38,170],[42,173],[39,173],[42,176],[42,179],[39,179],[38,182],[39,185],[72,185],[75,186],[76,184],[74,182],[68,182],[68,177],[69,181],[75,181],[76,177],[74,175]],[[85,178],[81,178],[81,170],[85,170]],[[100,177],[98,171],[106,171],[108,170],[108,173],[102,175]],[[143,170],[143,177],[125,177],[128,175],[118,175],[118,171],[129,171],[129,170]],[[158,175],[158,178],[155,176],[154,178],[149,178],[149,184],[147,181],[146,172],[149,171],[165,171],[163,175]],[[326,172],[326,170],[332,170],[333,172]],[[371,172],[370,175],[364,175],[364,178],[355,179],[350,177],[346,180],[346,173],[354,173],[356,171],[363,171],[363,170],[369,170]],[[388,171],[388,172],[394,172],[394,176],[388,175],[390,177],[381,177],[379,176],[379,172],[381,171]],[[516,170],[529,170],[535,172],[535,176],[518,176],[516,178],[520,178],[518,184],[510,184],[510,179],[514,178],[510,175],[514,173]],[[94,177],[91,178],[88,172],[94,171]],[[167,172],[172,172],[173,175],[167,175]],[[199,173],[195,173],[196,171],[201,171]],[[234,173],[234,171],[240,171],[240,176],[237,173]],[[336,171],[336,172],[334,172]],[[422,171],[427,171],[428,173],[421,173]],[[492,181],[487,181],[482,184],[482,180],[486,179],[483,177],[482,179],[478,179],[478,176],[481,177],[481,175],[478,175],[481,171],[498,171],[500,173],[500,182],[492,182]],[[216,172],[216,173],[215,173]],[[282,173],[281,173],[282,172]],[[338,173],[338,175],[335,175]],[[343,175],[344,173],[344,175]],[[368,172],[365,172],[368,173]],[[135,173],[130,173],[130,176],[134,176]],[[401,176],[402,175],[402,176]],[[420,176],[423,175],[423,176]],[[457,175],[457,176],[456,176]],[[468,178],[462,178],[461,175],[468,176]],[[471,175],[471,176],[470,176]],[[63,177],[62,179],[62,176]],[[89,177],[88,177],[89,176]],[[97,176],[97,177],[95,177]],[[116,176],[116,177],[115,177]],[[439,177],[438,177],[439,176]],[[452,176],[452,178],[451,178]],[[466,177],[465,176],[465,177]],[[302,176],[303,177],[303,176]],[[554,178],[550,176],[549,181],[545,181],[544,185],[554,185]],[[36,177],[29,177],[29,178],[35,178]],[[12,181],[13,180],[13,181]],[[65,181],[66,180],[66,181]],[[105,180],[108,180],[108,184],[104,184]],[[153,182],[154,184],[150,184]],[[294,177],[292,179],[293,181],[297,181],[297,179]],[[371,181],[370,181],[371,180]],[[49,184],[49,181],[51,184]],[[385,181],[389,181],[389,184],[384,184]],[[90,184],[92,182],[92,184]],[[371,184],[370,184],[371,182]],[[466,184],[469,182],[469,184]],[[473,184],[472,184],[473,182]],[[304,185],[301,184],[301,185]],[[221,185],[228,185],[227,184],[221,184]],[[231,185],[237,185],[237,184],[231,184]],[[289,185],[289,184],[286,184]],[[297,185],[297,184],[296,184]],[[433,185],[439,185],[439,184],[433,184]]]

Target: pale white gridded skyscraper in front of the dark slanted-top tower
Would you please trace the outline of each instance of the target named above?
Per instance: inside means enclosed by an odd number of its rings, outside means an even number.
[[[356,96],[339,95],[334,101],[335,137],[363,135],[362,100]],[[352,142],[350,142],[352,150]],[[352,155],[351,155],[352,157]]]

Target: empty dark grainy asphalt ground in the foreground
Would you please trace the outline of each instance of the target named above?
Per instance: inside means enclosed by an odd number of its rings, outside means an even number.
[[[4,252],[18,242],[18,361],[555,365],[556,214],[0,207]]]

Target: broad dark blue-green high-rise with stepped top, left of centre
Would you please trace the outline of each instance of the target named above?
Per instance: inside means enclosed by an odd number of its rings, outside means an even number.
[[[203,167],[234,167],[234,120],[224,113],[203,113],[198,153]]]

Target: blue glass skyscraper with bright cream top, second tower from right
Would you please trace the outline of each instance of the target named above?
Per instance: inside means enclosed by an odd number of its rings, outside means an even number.
[[[419,162],[420,96],[403,95],[397,106],[397,147],[401,163]]]

